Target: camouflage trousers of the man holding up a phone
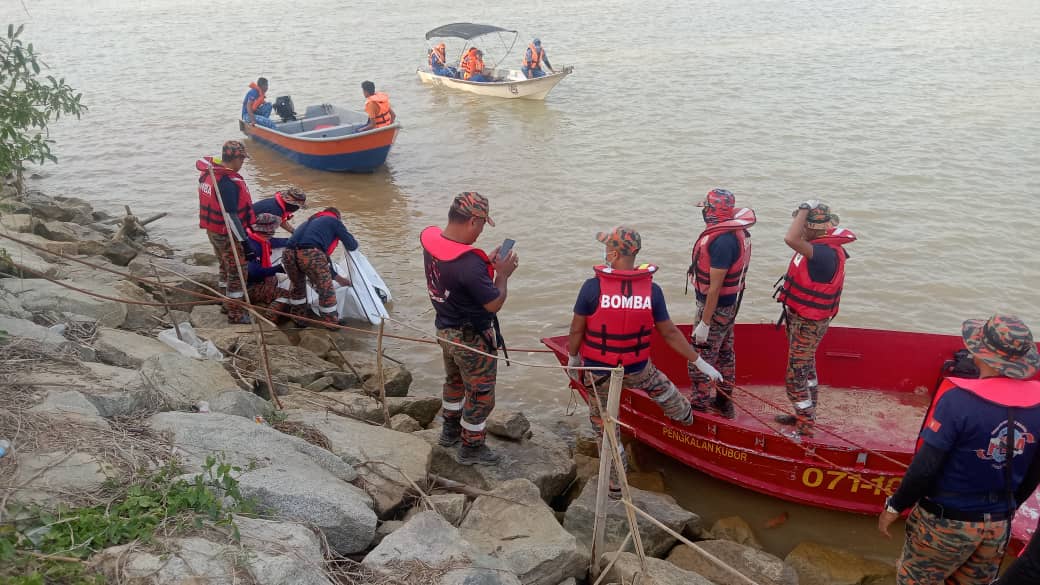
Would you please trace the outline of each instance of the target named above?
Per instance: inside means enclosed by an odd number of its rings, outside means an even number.
[[[437,336],[498,355],[494,329],[438,329]],[[441,352],[444,355],[444,392],[441,398],[444,427],[461,426],[464,446],[484,444],[488,416],[495,409],[498,360],[450,344],[441,344]]]

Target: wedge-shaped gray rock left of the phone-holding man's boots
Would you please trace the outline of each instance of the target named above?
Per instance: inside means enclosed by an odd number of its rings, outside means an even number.
[[[286,414],[291,422],[320,431],[333,453],[355,462],[380,515],[400,506],[411,490],[409,479],[421,482],[430,470],[432,449],[411,433],[323,412],[289,410]]]

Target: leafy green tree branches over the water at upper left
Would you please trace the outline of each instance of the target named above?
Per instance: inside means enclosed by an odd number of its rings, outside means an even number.
[[[8,25],[7,36],[0,37],[0,177],[16,173],[20,195],[23,162],[57,162],[47,125],[61,115],[79,118],[86,111],[82,94],[63,77],[42,75],[47,63],[32,43],[23,43],[24,28]]]

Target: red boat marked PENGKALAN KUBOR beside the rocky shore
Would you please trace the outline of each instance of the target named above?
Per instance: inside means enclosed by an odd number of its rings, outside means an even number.
[[[679,326],[687,337],[691,326]],[[656,332],[653,363],[690,391],[686,362]],[[567,337],[542,339],[567,363]],[[636,440],[719,479],[799,504],[877,514],[913,457],[914,443],[958,335],[831,327],[816,353],[820,407],[815,437],[797,442],[774,415],[790,409],[784,392],[787,339],[773,325],[735,330],[736,418],[698,413],[691,427],[666,417],[643,391],[626,390],[621,422]],[[586,388],[571,382],[582,398]],[[789,429],[789,428],[787,428]],[[1018,511],[1013,550],[1040,517],[1040,491]]]

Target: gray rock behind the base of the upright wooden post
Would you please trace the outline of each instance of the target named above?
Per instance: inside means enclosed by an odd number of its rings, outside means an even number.
[[[592,529],[596,519],[596,483],[597,478],[590,479],[581,494],[575,500],[564,516],[564,528],[592,549]],[[675,503],[675,499],[664,493],[644,491],[631,488],[632,503],[641,510],[657,518],[658,522],[682,534],[683,530],[696,531],[700,528],[700,517]],[[643,550],[651,557],[660,557],[668,553],[676,539],[643,516],[638,517],[640,536],[643,538]],[[616,551],[628,534],[628,516],[625,505],[620,501],[607,499],[606,532],[604,552]]]

